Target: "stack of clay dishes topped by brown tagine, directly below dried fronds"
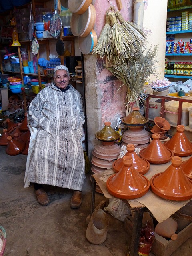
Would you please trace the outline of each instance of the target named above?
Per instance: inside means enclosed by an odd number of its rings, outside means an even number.
[[[134,144],[136,148],[144,148],[149,144],[151,136],[144,129],[149,120],[140,114],[139,108],[133,107],[132,112],[121,122],[129,128],[122,135],[122,145]]]

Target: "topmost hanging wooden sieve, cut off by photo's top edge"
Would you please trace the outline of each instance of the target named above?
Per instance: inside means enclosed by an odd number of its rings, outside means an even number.
[[[92,0],[69,0],[68,1],[68,7],[69,10],[76,14],[83,14],[88,7],[90,6]]]

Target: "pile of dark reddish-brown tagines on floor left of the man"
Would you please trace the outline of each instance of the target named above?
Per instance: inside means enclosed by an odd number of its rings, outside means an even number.
[[[7,128],[3,129],[0,137],[0,145],[7,146],[6,153],[10,156],[18,154],[28,154],[30,131],[27,126],[27,113],[21,123],[14,123],[9,118],[6,119]]]

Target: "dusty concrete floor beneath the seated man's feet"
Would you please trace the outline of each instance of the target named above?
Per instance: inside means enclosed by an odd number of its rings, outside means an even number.
[[[82,206],[69,207],[71,190],[46,186],[48,206],[36,200],[33,185],[24,188],[26,158],[22,154],[9,156],[6,146],[0,146],[0,225],[6,229],[5,256],[126,256],[130,237],[120,222],[107,213],[109,227],[106,241],[90,244],[86,239],[86,217],[90,212],[91,184],[87,174],[82,191]],[[96,192],[96,205],[106,200]],[[172,256],[191,255],[192,238]],[[153,254],[150,253],[152,256]]]

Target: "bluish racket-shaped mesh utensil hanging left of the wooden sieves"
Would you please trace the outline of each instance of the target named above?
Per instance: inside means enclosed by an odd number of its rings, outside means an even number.
[[[57,4],[58,0],[55,0],[55,14],[52,16],[49,26],[50,34],[55,39],[57,39],[60,36],[62,28],[61,18],[57,13]]]

